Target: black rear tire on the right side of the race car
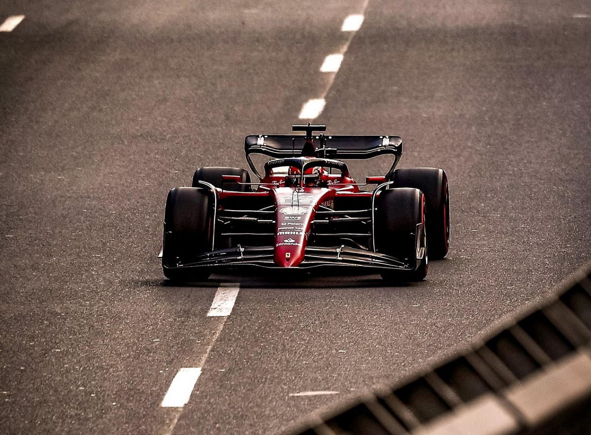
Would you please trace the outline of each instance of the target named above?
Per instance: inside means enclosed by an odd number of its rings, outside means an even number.
[[[423,191],[427,199],[427,240],[431,260],[443,259],[449,250],[450,216],[447,175],[439,168],[397,169],[392,174],[394,187]]]

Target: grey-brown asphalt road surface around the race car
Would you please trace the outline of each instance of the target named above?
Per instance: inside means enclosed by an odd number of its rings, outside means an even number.
[[[12,15],[2,433],[280,433],[462,348],[591,259],[588,1],[3,1]],[[290,132],[319,98],[330,133],[397,134],[401,167],[447,171],[447,259],[398,287],[167,283],[168,190],[244,167],[244,136]],[[208,316],[224,289],[231,313]],[[201,369],[190,398],[163,407],[181,368]]]

